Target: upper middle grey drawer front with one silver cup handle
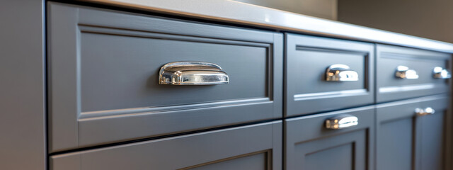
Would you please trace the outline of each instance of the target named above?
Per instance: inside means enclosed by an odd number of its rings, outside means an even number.
[[[287,34],[286,115],[374,102],[374,45]]]

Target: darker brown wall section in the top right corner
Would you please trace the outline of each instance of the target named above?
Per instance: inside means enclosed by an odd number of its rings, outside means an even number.
[[[338,21],[453,42],[451,0],[340,0]]]

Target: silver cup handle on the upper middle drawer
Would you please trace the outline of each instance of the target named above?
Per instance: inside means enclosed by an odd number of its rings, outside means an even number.
[[[359,75],[345,64],[333,64],[326,70],[326,81],[358,81]]]

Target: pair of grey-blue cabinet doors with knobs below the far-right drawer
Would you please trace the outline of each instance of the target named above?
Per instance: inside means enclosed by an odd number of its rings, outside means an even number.
[[[377,169],[443,169],[447,96],[377,106]]]

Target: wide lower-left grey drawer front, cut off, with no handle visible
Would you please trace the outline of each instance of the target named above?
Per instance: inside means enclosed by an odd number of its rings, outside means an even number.
[[[52,170],[282,169],[282,122],[50,157]]]

